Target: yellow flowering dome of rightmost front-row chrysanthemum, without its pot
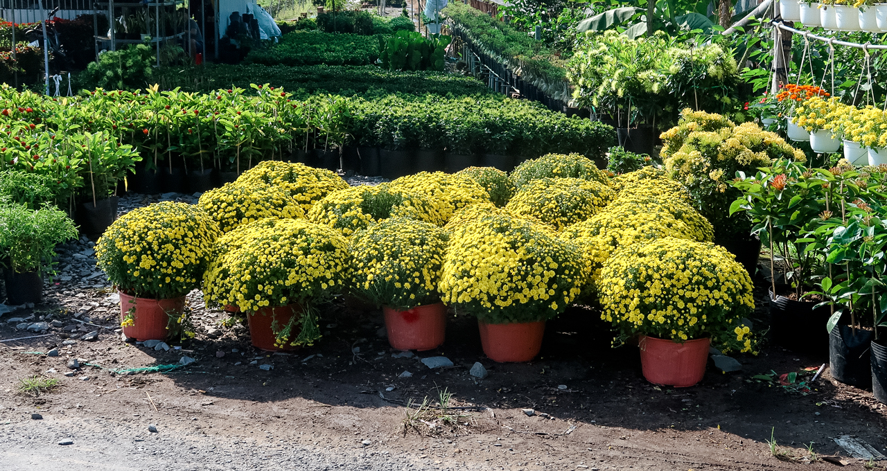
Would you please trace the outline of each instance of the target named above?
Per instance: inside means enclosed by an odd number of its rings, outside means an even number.
[[[622,247],[604,263],[598,286],[601,318],[616,328],[616,341],[710,339],[754,353],[741,321],[755,309],[751,279],[723,247],[673,237]]]

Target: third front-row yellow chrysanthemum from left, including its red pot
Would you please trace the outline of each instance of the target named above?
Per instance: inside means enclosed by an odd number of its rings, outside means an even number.
[[[373,224],[351,239],[349,292],[382,306],[395,349],[443,343],[446,307],[437,285],[448,239],[435,224],[408,217]]]

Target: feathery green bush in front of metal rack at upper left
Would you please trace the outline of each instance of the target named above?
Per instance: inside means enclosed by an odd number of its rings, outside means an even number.
[[[108,90],[132,90],[151,83],[153,51],[148,45],[134,44],[120,51],[105,51],[98,55],[98,62],[91,62],[81,75],[85,88]]]

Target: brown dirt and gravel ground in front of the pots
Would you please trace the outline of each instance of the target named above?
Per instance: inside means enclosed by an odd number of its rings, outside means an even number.
[[[750,379],[773,371],[809,380],[804,368],[827,357],[768,346],[757,357],[737,357],[742,372],[710,365],[693,388],[655,387],[641,376],[637,348],[611,349],[607,326],[587,308],[548,324],[538,360],[499,365],[483,356],[469,318],[449,320],[442,348],[392,357],[381,312],[337,302],[324,311],[325,336],[316,346],[268,354],[250,346],[245,327],[220,327],[226,315],[204,310],[195,292],[189,302],[198,336],[181,349],[157,351],[114,332],[119,308],[109,288],[80,295],[62,284],[48,292],[43,305],[0,318],[0,339],[33,335],[5,321],[29,314],[82,326],[72,321],[77,314],[107,328],[97,329],[98,341],[64,343],[95,328],[83,326],[0,343],[0,462],[11,466],[3,469],[47,469],[47,460],[70,469],[146,470],[826,469],[836,465],[810,462],[807,444],[817,455],[843,456],[836,436],[856,436],[880,451],[887,444],[883,404],[830,381],[828,368],[808,394]],[[765,317],[765,302],[758,304]],[[59,357],[45,355],[53,348]],[[175,365],[183,356],[197,361],[169,373],[114,373]],[[454,366],[420,363],[433,356]],[[80,369],[69,369],[73,358]],[[468,373],[475,362],[487,378]],[[32,375],[60,386],[21,394],[19,381]],[[438,404],[444,390],[451,409],[407,419],[415,415],[407,402],[428,397]],[[771,434],[793,460],[773,456]],[[59,444],[67,440],[73,444]],[[849,468],[867,466],[848,461]]]

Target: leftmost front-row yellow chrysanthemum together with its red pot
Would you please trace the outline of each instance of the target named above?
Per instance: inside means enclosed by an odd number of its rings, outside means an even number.
[[[163,340],[184,318],[184,296],[200,287],[218,225],[196,206],[165,201],[133,209],[96,244],[98,267],[120,293],[123,334]]]

